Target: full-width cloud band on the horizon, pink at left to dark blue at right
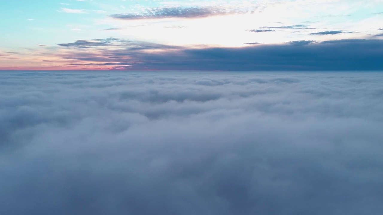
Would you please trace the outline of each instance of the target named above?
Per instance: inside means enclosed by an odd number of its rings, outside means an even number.
[[[115,70],[379,70],[383,40],[301,40],[244,47],[169,46],[118,38],[78,40],[12,54],[18,68]],[[363,56],[361,58],[360,56]],[[8,56],[9,57],[9,56]],[[38,62],[37,62],[38,61]],[[49,62],[49,64],[47,64]],[[41,67],[38,67],[41,66]],[[3,66],[2,68],[8,68]]]

